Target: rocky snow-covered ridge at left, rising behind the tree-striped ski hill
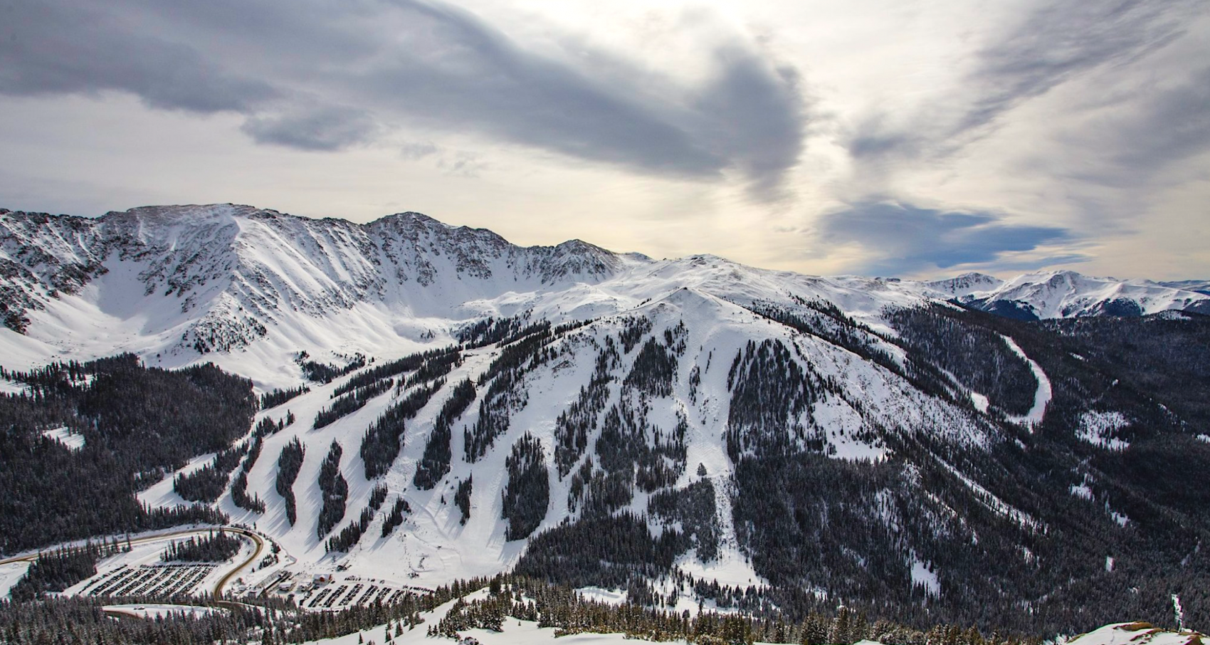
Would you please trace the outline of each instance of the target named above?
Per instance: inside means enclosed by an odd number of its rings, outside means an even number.
[[[259,340],[249,364],[413,347],[449,321],[646,261],[580,241],[522,248],[417,213],[358,225],[232,205],[0,212],[0,313],[25,333],[0,344],[17,363],[133,351],[165,365]]]

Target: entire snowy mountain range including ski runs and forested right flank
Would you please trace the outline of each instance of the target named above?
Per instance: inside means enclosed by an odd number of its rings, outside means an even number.
[[[300,575],[515,570],[1055,630],[1210,577],[1210,494],[1188,483],[1210,467],[1210,326],[1154,315],[1204,294],[816,277],[230,205],[5,212],[0,260],[6,368],[129,351],[290,388],[139,500],[212,506]]]

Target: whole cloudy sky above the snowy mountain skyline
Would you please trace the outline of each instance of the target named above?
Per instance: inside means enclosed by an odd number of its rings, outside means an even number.
[[[0,0],[0,206],[1210,277],[1205,0]]]

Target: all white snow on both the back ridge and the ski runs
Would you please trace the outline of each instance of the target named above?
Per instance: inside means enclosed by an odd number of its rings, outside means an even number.
[[[883,442],[858,438],[865,437],[871,426],[889,433],[928,432],[938,442],[974,450],[989,450],[1006,437],[986,419],[973,414],[969,405],[960,407],[923,395],[891,370],[817,336],[756,316],[745,307],[762,303],[793,309],[800,306],[796,299],[822,300],[893,338],[894,332],[883,318],[887,307],[1020,290],[1041,280],[1035,276],[1003,282],[981,275],[939,282],[819,277],[761,270],[708,255],[657,261],[641,255],[616,255],[580,243],[523,248],[508,244],[490,231],[446,226],[415,214],[357,225],[218,205],[145,208],[106,215],[96,224],[88,221],[88,226],[97,226],[98,236],[127,236],[137,244],[123,246],[117,252],[104,246],[88,247],[83,242],[71,246],[53,235],[54,231],[25,231],[13,238],[30,244],[39,243],[41,237],[38,236],[45,235],[53,238],[47,248],[56,258],[64,261],[94,259],[105,272],[74,295],[47,295],[45,309],[28,313],[31,318],[28,335],[0,329],[0,355],[5,356],[6,367],[28,368],[68,357],[82,359],[132,351],[151,365],[168,368],[214,362],[250,378],[255,388],[264,392],[302,382],[293,361],[300,350],[324,362],[338,362],[339,355],[355,352],[387,361],[448,345],[455,330],[488,316],[529,313],[532,319],[546,318],[555,324],[594,321],[552,344],[565,356],[525,376],[526,403],[513,411],[508,431],[474,463],[463,459],[460,432],[477,421],[479,402],[471,404],[453,428],[451,472],[431,491],[416,490],[411,480],[437,411],[450,395],[453,384],[483,372],[499,351],[495,347],[466,352],[463,364],[446,379],[450,385],[407,424],[403,449],[379,480],[365,479],[358,447],[365,428],[398,399],[399,393],[392,391],[379,396],[357,413],[321,430],[311,430],[315,414],[330,404],[333,390],[348,378],[328,385],[311,384],[310,393],[257,415],[258,421],[264,417],[280,420],[287,410],[296,416],[295,424],[265,438],[261,456],[248,473],[249,494],[265,501],[266,512],[237,508],[230,494],[219,499],[217,508],[229,513],[234,523],[273,536],[283,549],[283,560],[289,559],[290,570],[301,576],[339,574],[340,580],[358,576],[396,586],[434,587],[453,578],[492,575],[517,563],[526,545],[506,541],[505,524],[500,519],[505,459],[513,443],[524,432],[531,432],[542,442],[548,463],[553,465],[555,419],[572,403],[578,387],[588,382],[597,345],[606,334],[616,334],[622,326],[621,318],[628,316],[650,318],[655,334],[662,334],[680,321],[690,330],[673,393],[649,402],[650,420],[670,430],[678,413],[685,415],[688,422],[686,472],[676,486],[696,480],[697,465],[702,463],[715,486],[718,508],[724,512],[719,516],[719,557],[701,562],[691,552],[681,555],[676,565],[720,584],[764,584],[739,549],[731,513],[726,512],[733,495],[730,488],[733,466],[722,442],[730,404],[726,378],[731,359],[747,342],[778,340],[791,350],[803,369],[840,384],[842,392],[839,396],[828,393],[809,410],[816,424],[812,430],[819,431],[826,454],[832,459],[868,462],[886,459],[888,448]],[[0,226],[8,224],[0,221]],[[96,249],[109,254],[92,258],[90,253]],[[11,254],[11,248],[0,248],[0,258]],[[168,289],[169,278],[173,284],[182,286],[179,290]],[[1101,288],[1096,286],[1101,283],[1081,282],[1073,275],[1064,275],[1059,282],[1064,280],[1074,281],[1071,283],[1078,287],[1077,292],[1085,287]],[[38,284],[29,287],[34,292],[41,288]],[[1159,287],[1147,287],[1152,288]],[[1039,311],[1048,316],[1068,315],[1064,303],[1070,304],[1071,296],[1050,298],[1051,293],[1058,293],[1055,289],[1037,292],[1031,301],[1037,301]],[[1170,292],[1174,289],[1154,293],[1171,295]],[[1198,298],[1205,299],[1204,295]],[[1153,304],[1176,306],[1176,303],[1170,298],[1168,305],[1160,300]],[[238,336],[252,328],[240,327],[244,323],[264,326],[264,335],[240,336],[230,351],[202,355],[183,340],[197,338],[206,329]],[[876,335],[868,340],[893,361],[905,363],[906,356],[900,347]],[[1003,336],[1003,340],[1027,362],[1038,381],[1031,410],[1014,421],[1036,426],[1042,422],[1051,397],[1050,381],[1013,339]],[[618,401],[618,380],[629,372],[634,355],[624,356],[615,372],[607,404]],[[701,387],[691,396],[688,375],[695,365],[701,368]],[[2,387],[11,390],[19,385],[0,384]],[[480,397],[483,390],[480,387]],[[985,395],[967,395],[975,409],[984,413],[989,409]],[[788,425],[807,421],[806,413],[786,420]],[[74,437],[79,436],[56,436],[65,444],[76,440]],[[294,484],[298,522],[292,526],[286,519],[284,501],[275,490],[275,474],[283,445],[295,438],[306,445],[306,456]],[[595,439],[597,434],[589,436],[589,445]],[[339,440],[344,448],[341,471],[350,486],[346,516],[336,530],[357,517],[379,483],[391,490],[387,508],[397,495],[413,508],[403,526],[386,539],[380,537],[385,516],[380,512],[362,542],[347,554],[327,553],[323,546],[327,536],[315,535],[321,506],[316,479],[333,440]],[[177,473],[140,491],[139,500],[154,507],[185,503],[172,491],[173,476],[200,468],[212,457],[195,457]],[[1033,518],[969,477],[953,468],[951,472],[992,511],[1038,528]],[[453,490],[457,480],[472,473],[472,511],[463,525],[453,503]],[[551,505],[540,531],[576,517],[566,503],[569,480],[552,476],[551,483]],[[1071,493],[1091,497],[1091,489],[1083,484],[1072,486]],[[630,509],[641,513],[647,499],[647,494],[636,491]],[[894,522],[892,517],[885,519]],[[655,525],[653,529],[658,530]],[[134,565],[138,558],[155,549],[136,549],[137,553],[121,563]],[[935,572],[918,564],[920,571],[916,564],[912,565],[912,580],[933,588],[929,581],[935,584]],[[342,571],[338,572],[338,568]],[[255,575],[247,572],[244,582],[258,584],[280,570],[281,566]]]

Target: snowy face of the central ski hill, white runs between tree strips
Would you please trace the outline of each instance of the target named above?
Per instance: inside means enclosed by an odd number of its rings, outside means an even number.
[[[678,329],[681,332],[676,332]],[[638,340],[629,347],[624,346],[623,336],[635,332],[640,334]],[[668,339],[673,336],[668,334],[678,333],[681,335],[669,342]],[[666,374],[668,390],[664,396],[656,396],[658,393],[644,391],[628,381],[636,372],[636,362],[641,359],[640,347],[644,341],[653,342],[652,346],[659,347],[658,351],[667,351],[667,356],[674,357],[674,367]],[[333,571],[340,565],[350,575],[386,576],[402,582],[436,586],[454,578],[506,570],[515,564],[525,549],[524,541],[507,541],[505,536],[507,522],[502,519],[501,491],[508,483],[505,462],[509,449],[523,436],[530,434],[538,439],[548,461],[560,457],[555,451],[567,442],[565,427],[560,426],[560,415],[583,398],[583,392],[592,387],[594,378],[603,375],[610,382],[603,388],[599,405],[603,413],[593,417],[593,427],[586,436],[590,448],[587,455],[572,455],[563,473],[552,470],[549,507],[537,530],[558,526],[564,519],[584,513],[587,502],[577,503],[570,497],[574,480],[571,474],[584,463],[592,465],[593,457],[598,465],[604,465],[604,457],[600,456],[603,448],[598,444],[601,430],[597,426],[598,419],[604,422],[607,416],[604,410],[610,409],[620,410],[623,416],[634,414],[630,410],[643,410],[639,413],[640,424],[645,422],[649,427],[634,431],[643,434],[655,432],[656,437],[644,436],[639,440],[646,445],[653,440],[658,443],[663,437],[664,442],[679,442],[682,450],[674,456],[659,457],[675,473],[670,479],[647,491],[635,490],[629,501],[613,511],[629,509],[643,514],[647,511],[652,494],[658,490],[682,489],[702,479],[713,483],[719,495],[718,506],[726,508],[730,505],[726,490],[732,478],[733,461],[728,457],[727,439],[720,430],[728,422],[728,381],[744,379],[744,374],[734,374],[732,359],[748,351],[753,342],[783,347],[783,351],[793,355],[791,359],[800,365],[803,378],[819,384],[816,401],[805,401],[799,408],[788,405],[779,413],[780,422],[799,428],[799,436],[794,438],[799,447],[809,444],[835,459],[878,461],[886,457],[887,439],[891,436],[912,436],[926,431],[932,434],[930,440],[978,451],[1004,440],[987,420],[924,395],[903,376],[883,367],[863,361],[817,336],[797,334],[788,327],[773,324],[768,318],[726,300],[682,288],[626,313],[603,317],[558,334],[546,346],[554,356],[535,358],[535,365],[526,368],[512,390],[502,395],[515,397],[502,403],[507,405],[503,413],[506,427],[490,439],[485,454],[477,457],[468,455],[468,436],[462,431],[469,428],[467,432],[473,432],[479,424],[484,414],[479,403],[485,399],[489,403],[505,401],[491,399],[490,388],[480,385],[476,405],[471,405],[460,419],[450,439],[451,468],[432,490],[417,489],[413,480],[433,432],[437,414],[448,399],[453,384],[463,379],[483,381],[489,365],[500,358],[500,347],[492,345],[463,352],[461,365],[445,376],[450,385],[439,391],[408,424],[402,440],[403,450],[381,478],[364,477],[365,468],[358,455],[358,447],[365,428],[388,407],[424,385],[391,390],[373,398],[353,414],[319,430],[312,428],[316,414],[330,405],[333,392],[355,376],[338,379],[328,385],[312,385],[311,392],[266,410],[261,417],[277,421],[286,417],[288,410],[296,419],[283,431],[265,439],[263,456],[257,460],[248,476],[248,491],[265,500],[267,509],[265,513],[241,509],[231,502],[230,496],[224,497],[220,508],[231,514],[234,522],[247,523],[276,536],[292,555],[307,563],[316,572]],[[610,352],[610,347],[616,347],[611,355],[613,364],[601,373],[595,365]],[[887,347],[888,351],[898,350],[889,344]],[[396,358],[379,356],[384,361]],[[757,376],[753,373],[750,378]],[[828,390],[823,385],[826,382],[839,385],[835,390]],[[682,428],[684,436],[674,439],[675,432],[681,431],[678,428]],[[298,519],[292,526],[286,518],[283,499],[275,491],[275,477],[278,470],[277,456],[294,439],[305,445],[306,459],[294,484],[299,502]],[[390,537],[379,537],[385,518],[385,513],[379,513],[362,542],[347,555],[339,554],[339,558],[324,551],[328,535],[316,535],[316,522],[323,500],[317,484],[318,472],[333,440],[341,443],[344,449],[341,472],[350,486],[348,518],[355,517],[368,503],[376,483],[385,483],[392,493],[405,499],[413,509],[405,520],[405,530]],[[764,449],[756,439],[748,437],[738,437],[737,442],[743,444],[743,451]],[[581,449],[580,453],[583,454],[584,450]],[[704,476],[698,474],[699,465],[704,467]],[[454,494],[456,484],[472,476],[471,514],[463,524],[454,503]],[[151,505],[183,502],[172,493],[171,478],[146,491],[142,499]],[[1003,505],[1002,509],[1004,513],[1018,513],[1008,505]],[[747,586],[760,577],[739,552],[726,513],[720,517],[719,555],[697,558],[687,554],[684,564],[687,570],[719,580],[720,583]]]

